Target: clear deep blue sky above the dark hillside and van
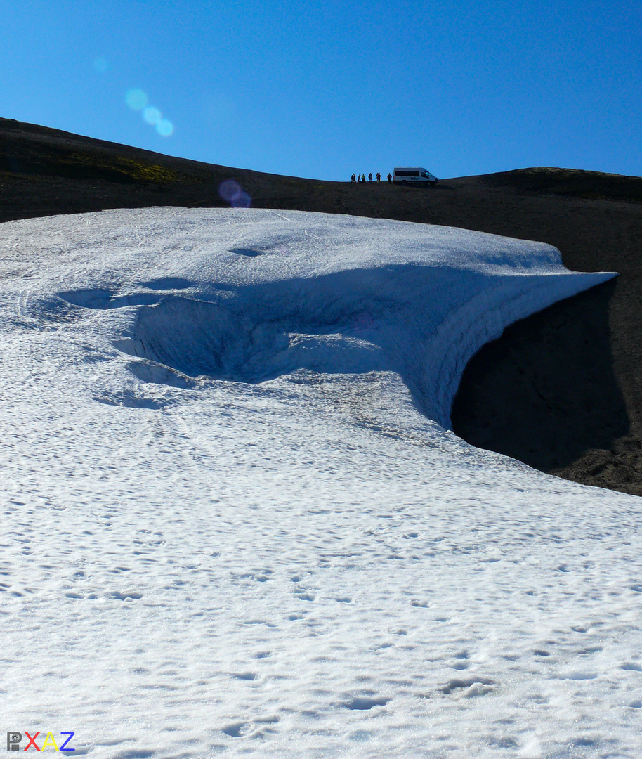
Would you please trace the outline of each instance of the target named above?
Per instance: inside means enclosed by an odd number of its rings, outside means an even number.
[[[3,0],[0,66],[4,118],[257,171],[642,174],[635,2]]]

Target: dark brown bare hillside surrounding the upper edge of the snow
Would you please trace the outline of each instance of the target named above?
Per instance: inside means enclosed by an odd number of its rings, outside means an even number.
[[[476,446],[642,496],[642,178],[527,168],[446,179],[425,190],[354,185],[187,161],[0,119],[0,222],[108,208],[225,206],[218,190],[228,178],[253,206],[540,240],[559,247],[570,269],[620,272],[483,348],[464,373],[452,420]]]

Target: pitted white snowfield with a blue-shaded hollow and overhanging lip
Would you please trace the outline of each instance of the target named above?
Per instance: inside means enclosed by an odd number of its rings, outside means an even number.
[[[612,275],[250,209],[10,222],[0,267],[7,730],[95,757],[639,753],[639,499],[448,431],[480,345]]]

